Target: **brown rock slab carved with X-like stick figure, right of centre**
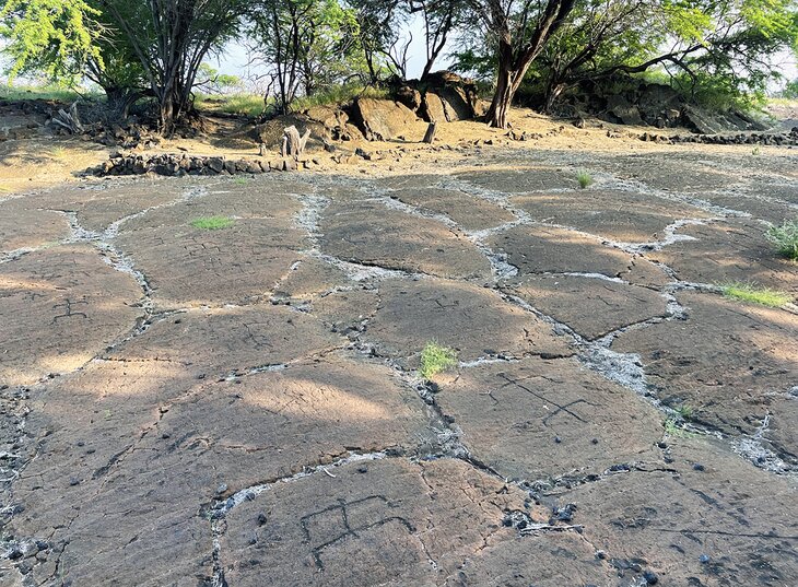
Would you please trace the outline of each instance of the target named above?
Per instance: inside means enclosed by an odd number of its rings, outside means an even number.
[[[660,414],[573,359],[463,369],[435,399],[470,454],[509,479],[579,479],[659,459]]]

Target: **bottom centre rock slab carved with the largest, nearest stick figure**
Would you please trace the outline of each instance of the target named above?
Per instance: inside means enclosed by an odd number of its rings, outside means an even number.
[[[274,485],[227,514],[220,550],[231,585],[261,585],[266,565],[281,585],[455,585],[454,577],[506,576],[504,560],[521,552],[540,556],[521,556],[516,577],[553,587],[562,576],[542,538],[504,526],[507,512],[526,512],[524,494],[462,461],[362,461],[335,474]],[[588,580],[607,577],[571,537],[545,540],[575,557]]]

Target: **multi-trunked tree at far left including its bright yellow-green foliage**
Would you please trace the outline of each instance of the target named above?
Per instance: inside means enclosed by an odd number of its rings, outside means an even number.
[[[162,132],[191,109],[206,56],[237,32],[244,0],[5,0],[0,13],[12,72],[52,78],[86,71],[112,97],[142,80]],[[113,57],[113,59],[106,59]],[[126,102],[129,101],[125,98]]]

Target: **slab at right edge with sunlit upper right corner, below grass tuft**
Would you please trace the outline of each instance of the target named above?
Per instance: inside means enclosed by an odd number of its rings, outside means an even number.
[[[612,349],[638,353],[660,400],[690,408],[691,419],[725,434],[754,435],[765,416],[788,426],[793,412],[773,408],[798,381],[798,318],[719,295],[677,297],[685,320],[622,333]],[[796,446],[774,448],[785,458],[798,454]]]

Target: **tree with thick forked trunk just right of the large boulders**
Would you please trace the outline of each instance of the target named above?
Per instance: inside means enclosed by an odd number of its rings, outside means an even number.
[[[488,121],[507,128],[507,111],[532,61],[563,26],[575,0],[469,0],[496,44],[498,71]]]

